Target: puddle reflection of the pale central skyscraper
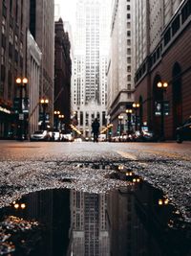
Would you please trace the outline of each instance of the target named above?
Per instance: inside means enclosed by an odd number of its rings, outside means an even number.
[[[70,253],[68,255],[110,255],[105,195],[71,191]]]

